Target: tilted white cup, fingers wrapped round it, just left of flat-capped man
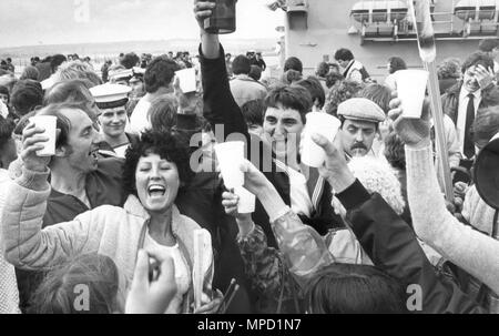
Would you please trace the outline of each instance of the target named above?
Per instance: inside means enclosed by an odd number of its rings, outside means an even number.
[[[326,152],[318,146],[312,135],[320,134],[333,142],[338,134],[342,122],[327,113],[310,112],[302,136],[302,162],[312,167],[319,167],[326,161]]]

